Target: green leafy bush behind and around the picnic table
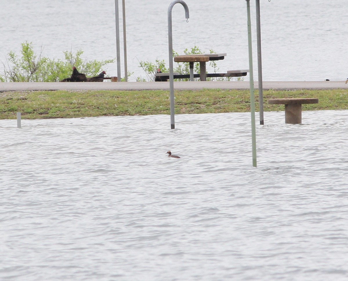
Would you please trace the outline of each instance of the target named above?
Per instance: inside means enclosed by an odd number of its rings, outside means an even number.
[[[193,54],[204,54],[202,50],[200,50],[199,47],[194,46],[190,48],[184,49],[185,55],[193,55]],[[210,54],[216,53],[212,49],[209,50]],[[174,56],[178,56],[179,54],[173,50],[173,58]],[[161,69],[162,72],[169,72],[169,68],[166,67],[164,60],[156,59],[155,63],[147,61],[139,61],[139,66],[145,71],[145,74],[148,78],[148,81],[155,81],[155,75],[157,72],[157,69]],[[219,68],[217,67],[216,61],[209,61],[209,66],[213,68],[213,72],[217,73]],[[173,67],[174,72],[178,72],[180,75],[183,74],[190,74],[190,63],[189,62],[177,62],[175,66]],[[194,73],[200,73],[199,64],[195,63],[193,66],[193,72]],[[231,81],[233,77],[207,77],[207,81]],[[238,81],[243,80],[243,77],[237,77]],[[182,79],[174,79],[175,81],[189,81],[189,78],[182,78]],[[198,78],[195,78],[197,81]],[[137,78],[137,81],[145,81],[145,79]]]

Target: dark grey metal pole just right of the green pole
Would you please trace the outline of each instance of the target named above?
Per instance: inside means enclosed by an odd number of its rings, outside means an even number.
[[[262,85],[262,58],[261,58],[260,0],[256,0],[256,35],[257,35],[257,41],[258,41],[258,75],[259,75],[260,125],[263,125],[263,85]]]

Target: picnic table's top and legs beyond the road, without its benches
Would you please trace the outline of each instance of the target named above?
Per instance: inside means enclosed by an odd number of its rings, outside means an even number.
[[[190,63],[190,81],[194,81],[193,63],[199,62],[200,81],[206,81],[207,80],[206,62],[212,61],[212,60],[223,60],[226,55],[227,55],[226,53],[179,55],[174,57],[174,61]]]

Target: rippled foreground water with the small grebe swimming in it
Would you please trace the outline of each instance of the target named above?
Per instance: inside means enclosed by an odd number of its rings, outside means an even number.
[[[0,279],[347,280],[347,118],[0,120]]]

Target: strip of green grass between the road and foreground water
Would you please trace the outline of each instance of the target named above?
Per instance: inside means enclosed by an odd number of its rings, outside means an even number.
[[[348,91],[264,90],[264,111],[284,111],[269,105],[270,98],[318,98],[302,110],[348,109]],[[255,91],[256,111],[259,110]],[[249,90],[176,91],[175,114],[250,111]],[[0,119],[72,118],[90,116],[170,114],[169,91],[27,91],[0,93]]]

